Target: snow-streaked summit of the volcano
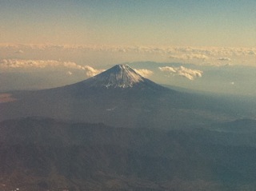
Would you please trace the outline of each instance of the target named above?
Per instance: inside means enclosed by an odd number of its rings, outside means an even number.
[[[116,65],[89,80],[91,82],[90,86],[130,88],[138,82],[144,82],[145,78],[128,65]]]

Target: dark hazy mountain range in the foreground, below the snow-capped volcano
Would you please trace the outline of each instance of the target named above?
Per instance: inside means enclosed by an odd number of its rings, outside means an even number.
[[[254,190],[254,136],[41,117],[2,121],[0,190]]]

